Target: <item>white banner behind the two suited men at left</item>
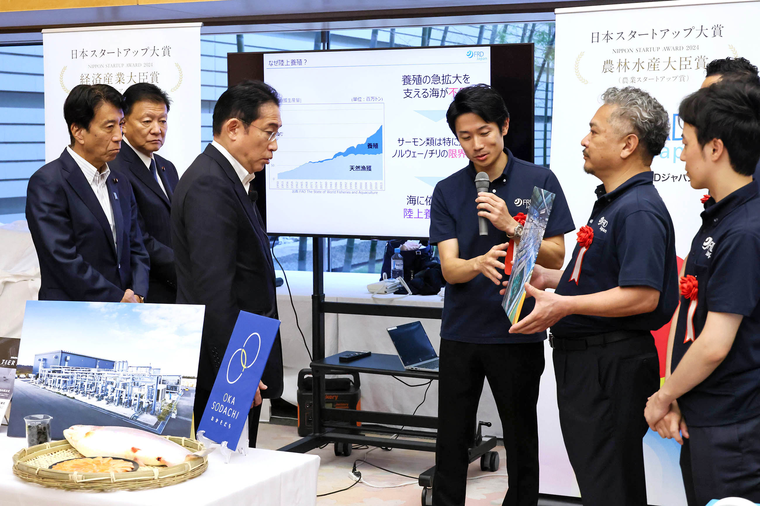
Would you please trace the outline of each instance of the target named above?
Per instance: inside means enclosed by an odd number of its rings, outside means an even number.
[[[160,156],[182,175],[201,145],[201,23],[43,30],[45,161],[69,144],[63,102],[78,84],[109,84],[123,93],[154,83],[169,94]]]

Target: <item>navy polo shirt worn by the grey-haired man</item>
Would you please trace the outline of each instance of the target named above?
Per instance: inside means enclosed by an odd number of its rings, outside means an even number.
[[[582,338],[617,330],[657,330],[665,325],[678,303],[678,268],[673,222],[651,171],[636,174],[610,193],[597,187],[597,201],[584,224],[594,229],[594,240],[581,264],[578,283],[570,281],[581,247],[575,250],[559,280],[560,295],[596,294],[616,287],[648,286],[660,291],[651,313],[602,317],[569,315],[552,325],[558,338]]]

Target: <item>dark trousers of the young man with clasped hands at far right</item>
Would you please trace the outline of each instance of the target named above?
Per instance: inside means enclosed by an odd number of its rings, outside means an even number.
[[[689,425],[689,420],[686,420]],[[689,506],[740,497],[760,502],[760,416],[717,427],[689,427],[681,474]]]

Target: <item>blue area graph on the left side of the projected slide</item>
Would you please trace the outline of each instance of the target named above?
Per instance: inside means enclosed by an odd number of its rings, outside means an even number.
[[[269,187],[385,189],[382,103],[286,103],[280,112]]]

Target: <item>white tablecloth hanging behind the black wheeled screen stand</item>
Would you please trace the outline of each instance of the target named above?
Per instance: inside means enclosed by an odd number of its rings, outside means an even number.
[[[298,319],[306,336],[309,349],[312,347],[312,272],[287,271],[293,304],[298,312]],[[283,273],[277,271],[282,277]],[[394,306],[434,306],[443,307],[443,297],[438,295],[378,295],[372,298],[367,291],[367,284],[378,281],[378,274],[356,274],[344,272],[325,272],[325,300],[328,302],[385,303]],[[401,298],[400,298],[401,297]],[[280,312],[281,335],[283,341],[283,366],[285,389],[283,399],[296,404],[296,379],[300,369],[309,367],[309,356],[304,349],[301,335],[296,328],[296,319],[290,306],[290,297],[285,284],[277,288],[277,308]],[[367,315],[325,315],[325,356],[345,350],[369,350],[373,353],[396,354],[388,332],[394,325],[416,321],[415,318],[397,318],[391,316]],[[435,350],[441,343],[441,320],[420,319]],[[404,379],[415,385],[421,380]],[[426,387],[410,388],[391,376],[365,374],[361,377],[362,409],[385,411],[389,413],[409,413],[425,398]],[[451,400],[455,405],[455,400]],[[418,415],[438,416],[438,382],[432,382],[427,397]],[[486,435],[502,437],[502,424],[496,410],[496,401],[491,389],[483,388],[478,409],[478,420],[492,422],[493,426],[484,428]]]

